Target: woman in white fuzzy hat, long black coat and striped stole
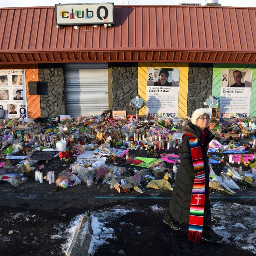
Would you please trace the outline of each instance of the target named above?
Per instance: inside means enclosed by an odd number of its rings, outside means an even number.
[[[180,166],[177,170],[169,209],[163,219],[173,230],[180,229],[179,222],[189,224],[189,240],[194,242],[199,242],[200,238],[215,242],[223,239],[211,228],[208,144],[214,136],[207,129],[210,116],[208,108],[197,109],[192,114],[191,122],[183,126]],[[205,189],[202,188],[203,192],[201,187],[196,187],[198,173],[200,173],[199,179],[203,175],[204,181],[201,182],[205,187]],[[204,201],[201,200],[199,203],[201,198]],[[194,214],[193,207],[200,207],[200,205],[203,209],[200,209],[198,215]]]

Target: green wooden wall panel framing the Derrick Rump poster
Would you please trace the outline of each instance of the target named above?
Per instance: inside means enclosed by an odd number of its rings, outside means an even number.
[[[250,116],[256,117],[256,64],[214,64],[212,73],[212,95],[218,97],[218,107],[220,105],[221,94],[221,70],[222,69],[252,69],[252,91],[250,99]],[[247,104],[247,102],[244,102]]]

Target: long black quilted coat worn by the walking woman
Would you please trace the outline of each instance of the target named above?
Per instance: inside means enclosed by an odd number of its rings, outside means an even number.
[[[206,129],[208,134],[204,145],[201,140],[201,132],[198,126],[188,122],[183,126],[182,132],[185,134],[182,140],[180,166],[177,170],[175,187],[172,192],[172,199],[169,204],[169,209],[166,212],[165,218],[175,218],[177,221],[188,224],[189,223],[189,207],[192,193],[192,186],[195,179],[195,172],[192,163],[191,148],[189,144],[189,137],[186,135],[192,134],[199,138],[201,150],[204,156],[205,178],[206,178],[206,194],[205,194],[205,211],[204,211],[204,227],[210,227],[210,204],[209,204],[209,167],[207,156],[207,145],[214,138],[213,134]]]

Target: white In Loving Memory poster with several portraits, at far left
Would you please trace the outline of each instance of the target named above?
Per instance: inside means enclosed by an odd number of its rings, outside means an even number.
[[[26,109],[20,108],[24,105],[24,88],[23,70],[15,74],[0,70],[0,117],[19,117],[21,112],[26,113]]]

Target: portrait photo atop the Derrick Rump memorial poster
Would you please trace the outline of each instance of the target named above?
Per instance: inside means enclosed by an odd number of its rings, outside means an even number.
[[[223,69],[221,87],[251,88],[253,70]]]

